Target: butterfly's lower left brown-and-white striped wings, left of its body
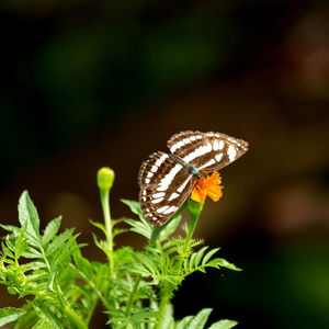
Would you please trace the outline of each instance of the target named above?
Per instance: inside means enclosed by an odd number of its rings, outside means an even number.
[[[160,151],[143,162],[138,174],[138,198],[147,222],[162,226],[170,219],[191,194],[192,178],[185,168]]]

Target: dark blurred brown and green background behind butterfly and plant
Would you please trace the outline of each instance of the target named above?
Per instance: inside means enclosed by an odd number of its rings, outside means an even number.
[[[214,308],[238,328],[329,328],[328,1],[2,1],[0,222],[27,189],[43,227],[64,215],[92,246],[97,170],[131,216],[148,155],[180,131],[242,138],[224,197],[196,230],[242,268],[197,273],[177,318]],[[4,232],[1,231],[1,235]],[[146,243],[134,234],[117,246]],[[104,260],[97,249],[84,256]],[[14,302],[3,290],[0,306]],[[102,314],[92,328],[102,328]]]

